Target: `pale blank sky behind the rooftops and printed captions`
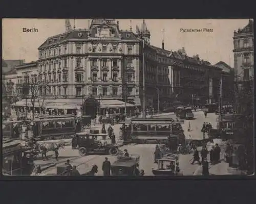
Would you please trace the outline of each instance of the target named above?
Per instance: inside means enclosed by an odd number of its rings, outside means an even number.
[[[76,29],[87,29],[89,20],[70,19]],[[120,30],[133,32],[142,19],[116,19]],[[211,64],[224,61],[233,67],[233,32],[247,25],[249,19],[145,19],[151,31],[151,44],[161,47],[164,38],[165,49],[185,48],[187,56],[199,55]],[[37,33],[24,33],[23,28],[38,29]],[[212,29],[212,32],[181,32],[181,29]],[[163,32],[164,30],[164,32]],[[48,38],[65,33],[65,19],[22,19],[9,18],[2,21],[2,54],[4,60],[38,59],[37,48]]]

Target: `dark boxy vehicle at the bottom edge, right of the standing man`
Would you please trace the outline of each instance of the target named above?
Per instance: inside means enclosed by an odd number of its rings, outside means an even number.
[[[118,156],[117,161],[111,165],[113,176],[134,176],[135,169],[139,166],[139,155],[131,154],[130,157]]]

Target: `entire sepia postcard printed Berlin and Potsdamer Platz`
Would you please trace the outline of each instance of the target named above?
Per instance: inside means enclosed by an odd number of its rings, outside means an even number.
[[[252,19],[3,19],[5,176],[253,175]]]

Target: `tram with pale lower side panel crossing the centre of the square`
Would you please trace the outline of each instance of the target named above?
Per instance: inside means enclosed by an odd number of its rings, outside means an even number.
[[[167,118],[133,118],[126,125],[125,140],[135,143],[161,143],[183,133],[181,123]]]

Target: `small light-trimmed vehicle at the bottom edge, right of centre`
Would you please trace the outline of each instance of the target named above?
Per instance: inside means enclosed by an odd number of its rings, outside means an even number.
[[[176,154],[167,154],[158,160],[158,167],[152,169],[154,175],[176,176],[183,175],[179,168],[179,158]]]

